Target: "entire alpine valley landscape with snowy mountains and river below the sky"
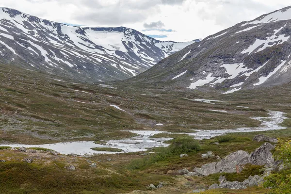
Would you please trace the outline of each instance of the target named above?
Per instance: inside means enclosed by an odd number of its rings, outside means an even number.
[[[0,194],[291,194],[290,83],[291,7],[188,43],[1,8]]]

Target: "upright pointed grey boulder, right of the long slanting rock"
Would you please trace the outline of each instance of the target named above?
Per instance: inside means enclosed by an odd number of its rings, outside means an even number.
[[[274,145],[270,143],[264,143],[251,153],[248,162],[254,165],[265,165],[274,163],[274,157],[271,152],[271,150],[274,148]]]

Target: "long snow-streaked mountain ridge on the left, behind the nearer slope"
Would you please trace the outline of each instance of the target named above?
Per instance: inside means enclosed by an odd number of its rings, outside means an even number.
[[[0,8],[0,62],[82,81],[135,76],[196,41],[159,41],[125,27],[68,26]]]

